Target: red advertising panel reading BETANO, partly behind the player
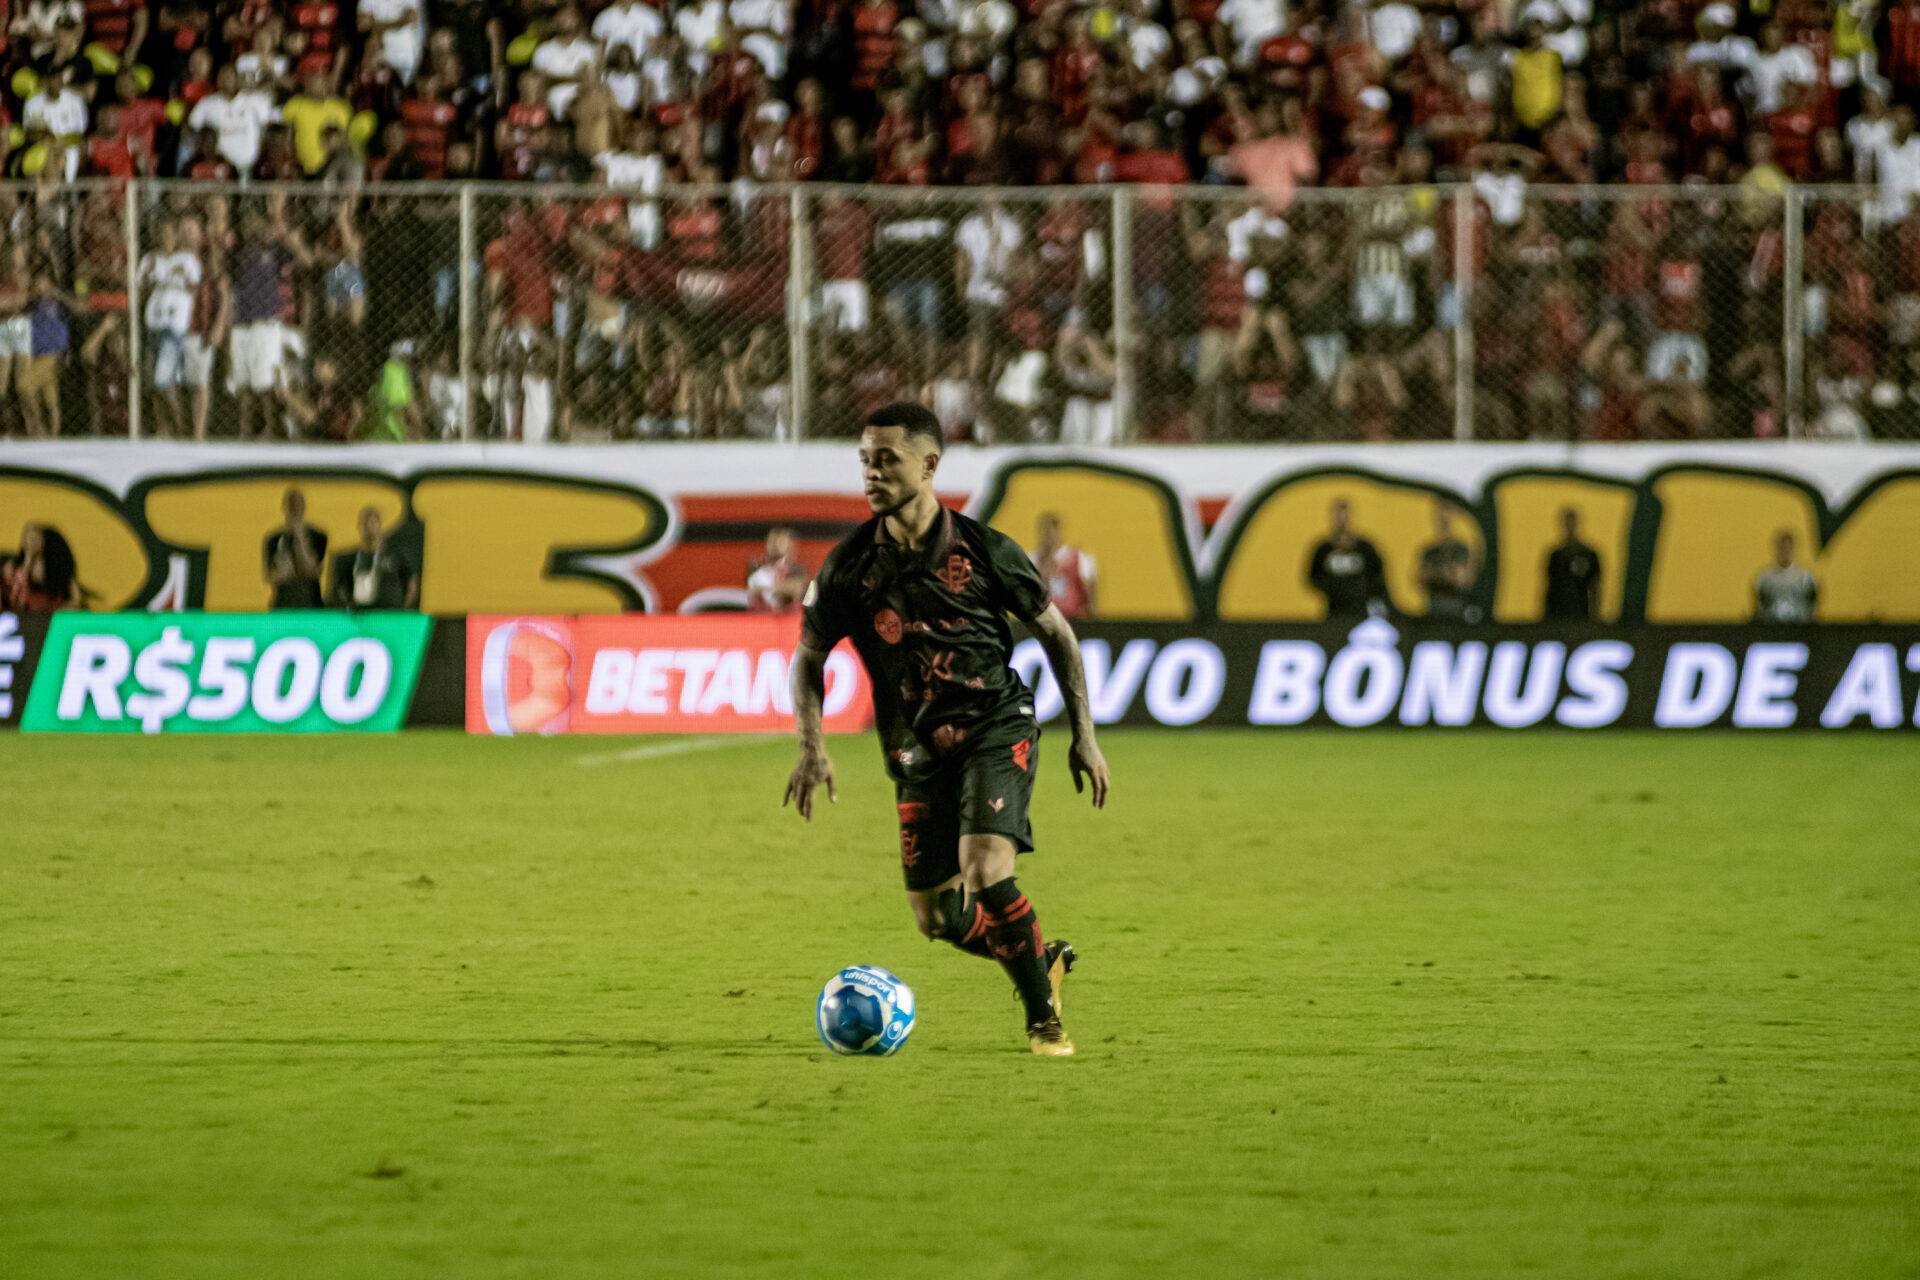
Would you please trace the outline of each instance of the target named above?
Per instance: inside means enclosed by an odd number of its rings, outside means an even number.
[[[797,616],[609,614],[467,620],[468,733],[780,733]],[[866,670],[828,654],[826,727],[874,720]]]

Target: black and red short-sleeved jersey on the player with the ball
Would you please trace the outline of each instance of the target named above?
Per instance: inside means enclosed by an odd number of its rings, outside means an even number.
[[[874,681],[874,727],[897,781],[918,781],[1002,725],[1031,723],[1014,674],[1008,614],[1039,618],[1046,581],[1006,533],[941,509],[924,547],[874,518],[847,535],[806,589],[801,637],[847,637]]]

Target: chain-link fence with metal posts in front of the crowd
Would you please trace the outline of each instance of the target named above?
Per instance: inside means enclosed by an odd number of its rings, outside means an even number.
[[[1920,438],[1920,211],[1872,188],[614,177],[0,186],[0,432]]]

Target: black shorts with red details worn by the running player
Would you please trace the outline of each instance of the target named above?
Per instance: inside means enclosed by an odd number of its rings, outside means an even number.
[[[1004,835],[1033,852],[1033,773],[1041,766],[1035,723],[996,729],[939,773],[895,783],[900,812],[900,871],[912,890],[939,889],[960,875],[962,835]]]

